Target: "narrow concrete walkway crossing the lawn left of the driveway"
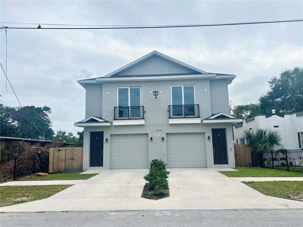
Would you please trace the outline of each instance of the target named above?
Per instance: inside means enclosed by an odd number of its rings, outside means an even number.
[[[28,180],[28,181],[10,181],[0,184],[0,186],[29,186],[29,185],[72,185],[78,184],[84,180]]]

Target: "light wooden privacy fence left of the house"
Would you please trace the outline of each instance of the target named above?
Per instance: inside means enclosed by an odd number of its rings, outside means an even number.
[[[83,164],[83,147],[52,147],[49,149],[49,173],[80,172]]]

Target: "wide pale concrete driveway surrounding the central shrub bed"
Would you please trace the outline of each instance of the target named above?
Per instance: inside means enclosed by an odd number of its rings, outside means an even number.
[[[217,170],[169,169],[170,197],[155,201],[140,197],[148,169],[102,170],[48,199],[2,207],[1,211],[303,208],[303,202],[265,196]]]

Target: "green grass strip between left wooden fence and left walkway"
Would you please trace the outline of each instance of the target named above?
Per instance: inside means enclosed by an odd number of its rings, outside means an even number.
[[[28,177],[24,177],[22,179],[17,179],[21,181],[28,181],[28,180],[86,180],[93,176],[96,176],[97,173],[89,173],[89,174],[80,174],[82,172],[76,173],[50,173],[49,175],[40,176],[37,174],[33,174]]]

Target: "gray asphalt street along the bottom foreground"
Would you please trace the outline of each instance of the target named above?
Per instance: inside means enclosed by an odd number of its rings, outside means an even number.
[[[1,213],[1,227],[302,227],[303,209],[137,210]]]

